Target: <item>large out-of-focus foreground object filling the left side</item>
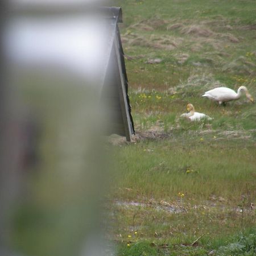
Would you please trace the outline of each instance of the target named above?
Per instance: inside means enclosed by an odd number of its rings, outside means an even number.
[[[123,113],[134,132],[123,59],[115,56],[115,65],[110,58],[121,51],[117,18],[108,16],[113,9],[76,1],[11,1],[10,9],[0,96],[0,228],[10,220],[10,234],[1,232],[1,246],[36,256],[111,254],[102,242],[109,185],[102,135]],[[118,67],[126,88],[104,88],[118,80]],[[117,115],[102,98],[113,90],[125,106]]]

